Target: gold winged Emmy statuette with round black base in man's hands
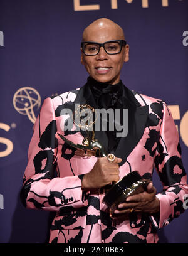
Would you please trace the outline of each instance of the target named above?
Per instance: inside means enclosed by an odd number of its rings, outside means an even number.
[[[76,109],[75,111],[75,115],[77,115],[76,117],[80,115],[80,110],[86,108],[91,109],[92,112],[95,112],[95,109],[87,104],[80,105],[80,109]],[[75,123],[74,118],[73,121]],[[85,127],[83,127],[81,124],[75,123],[75,125],[78,125],[80,128],[85,128],[88,134],[88,136],[83,139],[82,145],[71,142],[70,140],[66,139],[65,136],[62,136],[59,133],[58,136],[60,136],[61,139],[63,139],[63,141],[65,141],[68,145],[75,147],[76,149],[81,149],[85,152],[93,152],[93,155],[96,157],[108,157],[108,161],[113,163],[113,159],[115,158],[113,154],[107,155],[105,147],[103,147],[102,144],[97,139],[95,139],[95,133],[93,129],[90,129],[89,131],[90,127],[93,128],[93,124],[95,123],[95,121],[96,120],[94,120],[93,122],[93,119],[90,120],[90,123],[88,122],[87,124],[85,124]],[[113,212],[117,208],[118,204],[125,202],[128,196],[135,195],[144,191],[149,182],[150,180],[143,179],[138,171],[132,171],[132,173],[124,176],[117,183],[112,183],[104,186],[103,188],[100,188],[101,193],[102,191],[105,191],[103,203],[105,203],[110,208],[110,216],[113,216]]]

